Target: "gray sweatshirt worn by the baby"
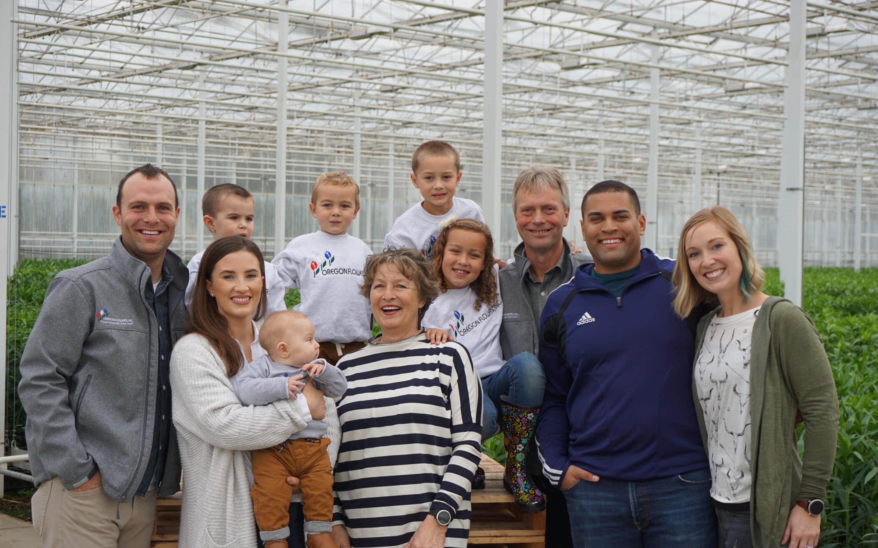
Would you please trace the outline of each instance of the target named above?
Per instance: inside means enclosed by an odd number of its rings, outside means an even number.
[[[348,379],[342,370],[328,364],[325,359],[315,359],[314,363],[326,366],[319,375],[313,376],[314,388],[330,398],[342,397],[344,391],[348,389]],[[289,398],[290,392],[286,381],[300,374],[305,375],[303,382],[311,376],[302,373],[301,367],[284,366],[272,361],[266,354],[242,367],[241,371],[232,377],[232,386],[234,393],[241,400],[241,405],[268,405]],[[290,439],[324,438],[326,434],[326,419],[311,419],[305,428],[295,432]]]

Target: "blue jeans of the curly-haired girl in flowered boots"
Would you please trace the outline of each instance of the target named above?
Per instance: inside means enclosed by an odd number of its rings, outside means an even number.
[[[482,441],[500,432],[500,396],[522,407],[543,404],[546,375],[543,364],[536,356],[522,352],[509,359],[500,370],[482,379],[485,391],[485,411],[482,415]]]

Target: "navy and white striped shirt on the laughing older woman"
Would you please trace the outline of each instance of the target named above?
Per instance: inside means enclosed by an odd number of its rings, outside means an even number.
[[[342,357],[342,445],[334,524],[353,548],[405,546],[430,509],[453,521],[445,546],[466,546],[472,476],[481,458],[482,385],[463,345],[423,334]]]

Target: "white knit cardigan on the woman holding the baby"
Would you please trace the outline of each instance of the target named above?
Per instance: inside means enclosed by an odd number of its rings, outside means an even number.
[[[282,400],[243,407],[226,366],[206,338],[177,341],[170,360],[171,409],[183,461],[180,548],[252,548],[256,545],[247,452],[282,443],[305,427],[298,404]],[[327,436],[339,427],[327,398]]]

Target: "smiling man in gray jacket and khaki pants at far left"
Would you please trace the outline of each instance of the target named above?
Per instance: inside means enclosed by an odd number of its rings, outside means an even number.
[[[110,254],[49,284],[18,394],[43,546],[149,545],[155,496],[180,488],[171,347],[183,336],[183,260],[168,246],[176,185],[146,164],[119,182]]]

